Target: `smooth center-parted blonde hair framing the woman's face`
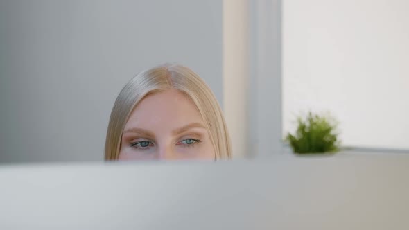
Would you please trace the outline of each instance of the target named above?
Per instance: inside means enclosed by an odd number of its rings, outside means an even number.
[[[180,65],[165,64],[142,71],[123,87],[112,108],[105,141],[105,160],[119,157],[123,128],[130,113],[148,94],[177,89],[188,96],[200,112],[207,128],[216,159],[231,157],[227,125],[216,97],[195,72]]]

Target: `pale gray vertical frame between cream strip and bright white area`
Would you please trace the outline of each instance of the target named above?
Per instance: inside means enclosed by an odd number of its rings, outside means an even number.
[[[284,152],[281,101],[281,0],[249,0],[250,156]]]

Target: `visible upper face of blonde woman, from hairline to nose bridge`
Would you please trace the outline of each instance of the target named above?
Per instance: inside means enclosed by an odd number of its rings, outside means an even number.
[[[143,98],[122,134],[120,160],[215,159],[198,109],[180,91]]]

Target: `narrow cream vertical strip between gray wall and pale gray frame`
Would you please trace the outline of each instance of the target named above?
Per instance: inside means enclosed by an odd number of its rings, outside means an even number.
[[[248,152],[248,2],[223,1],[223,105],[233,156]]]

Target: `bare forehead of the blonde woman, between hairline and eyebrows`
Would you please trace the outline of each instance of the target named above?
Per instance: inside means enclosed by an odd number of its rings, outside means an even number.
[[[195,104],[186,94],[168,89],[143,98],[130,114],[125,130],[130,127],[164,130],[189,123],[203,123]]]

